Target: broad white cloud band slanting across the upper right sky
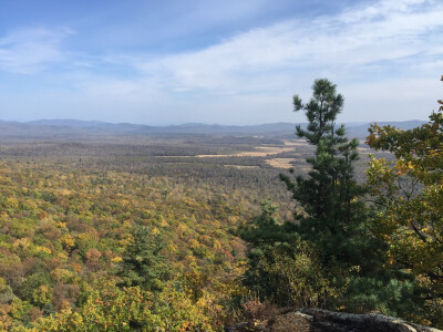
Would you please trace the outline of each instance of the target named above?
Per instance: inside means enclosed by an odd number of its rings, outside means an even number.
[[[291,20],[238,34],[207,49],[156,60],[126,56],[163,89],[249,93],[254,80],[333,69],[364,72],[365,68],[435,55],[443,40],[443,6],[425,0],[390,0],[338,17]],[[437,53],[437,55],[441,53]],[[410,59],[409,58],[414,58]],[[250,84],[245,84],[249,81]],[[278,83],[277,83],[278,84]],[[275,86],[279,89],[280,86]]]

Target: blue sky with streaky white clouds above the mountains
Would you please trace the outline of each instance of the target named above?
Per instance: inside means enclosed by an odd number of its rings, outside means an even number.
[[[443,97],[443,0],[0,0],[0,120],[426,120]]]

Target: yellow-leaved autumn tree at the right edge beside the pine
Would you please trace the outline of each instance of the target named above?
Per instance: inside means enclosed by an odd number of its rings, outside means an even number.
[[[442,76],[443,81],[443,76]],[[439,104],[443,102],[439,100]],[[369,129],[367,143],[394,160],[371,157],[368,185],[380,208],[374,232],[388,245],[388,261],[412,273],[425,300],[443,303],[443,106],[420,127]]]

